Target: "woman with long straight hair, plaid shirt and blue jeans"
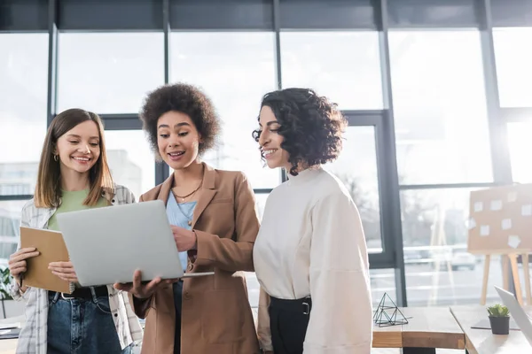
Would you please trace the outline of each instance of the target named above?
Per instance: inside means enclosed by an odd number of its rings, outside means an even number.
[[[98,115],[81,109],[59,113],[44,139],[35,196],[22,209],[21,226],[59,230],[56,218],[61,212],[134,202],[129,189],[113,184]],[[27,303],[16,352],[130,353],[132,342],[142,339],[142,330],[127,293],[112,286],[76,286],[68,259],[51,263],[49,269],[70,282],[72,294],[28,288],[21,274],[27,258],[38,254],[20,249],[9,260],[12,296]]]

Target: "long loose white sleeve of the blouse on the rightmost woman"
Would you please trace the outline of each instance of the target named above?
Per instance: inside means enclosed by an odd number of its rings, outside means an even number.
[[[366,354],[372,350],[372,295],[364,230],[343,190],[311,212],[312,310],[305,354]]]

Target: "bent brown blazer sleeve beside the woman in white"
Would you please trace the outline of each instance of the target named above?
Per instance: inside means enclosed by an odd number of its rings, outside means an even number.
[[[236,179],[234,208],[236,241],[194,230],[198,237],[196,265],[215,266],[228,272],[254,272],[253,246],[259,219],[253,189],[244,173],[239,173]]]

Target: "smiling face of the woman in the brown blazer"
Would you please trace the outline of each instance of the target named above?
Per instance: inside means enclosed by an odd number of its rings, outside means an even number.
[[[183,112],[170,111],[157,121],[160,157],[172,169],[188,167],[198,158],[201,137],[192,119]]]

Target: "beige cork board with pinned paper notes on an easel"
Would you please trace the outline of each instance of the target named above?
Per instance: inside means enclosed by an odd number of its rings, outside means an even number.
[[[467,250],[478,254],[532,250],[532,184],[471,192]]]

